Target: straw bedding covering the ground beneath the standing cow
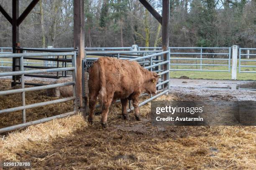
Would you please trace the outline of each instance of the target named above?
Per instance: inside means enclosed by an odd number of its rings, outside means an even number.
[[[74,115],[5,134],[0,159],[31,161],[36,170],[256,168],[256,127],[160,128],[151,125],[150,103],[140,108],[142,121],[132,115],[122,120],[120,109],[120,104],[111,107],[108,129],[101,128],[100,115],[94,125]]]

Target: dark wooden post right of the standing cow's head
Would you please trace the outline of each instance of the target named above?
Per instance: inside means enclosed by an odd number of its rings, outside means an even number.
[[[163,0],[162,1],[162,49],[163,51],[166,51],[169,47],[169,12],[170,12],[170,2],[169,0]],[[164,61],[167,60],[167,55],[164,54]],[[163,70],[165,71],[167,69],[167,64],[163,66]],[[164,81],[167,80],[166,74],[164,74]]]

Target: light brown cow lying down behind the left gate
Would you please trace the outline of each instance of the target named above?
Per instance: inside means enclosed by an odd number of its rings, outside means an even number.
[[[50,84],[59,84],[64,82],[72,82],[72,77],[61,77],[52,81]],[[73,86],[69,85],[47,89],[46,95],[51,97],[71,97],[73,96]]]

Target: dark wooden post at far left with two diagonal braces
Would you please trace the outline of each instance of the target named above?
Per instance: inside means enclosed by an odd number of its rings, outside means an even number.
[[[13,0],[13,7],[12,7],[12,28],[13,28],[13,53],[17,53],[16,45],[19,42],[19,27],[17,26],[17,18],[19,17],[19,0]],[[19,68],[16,67],[19,65],[19,59],[13,58],[13,71],[18,71]],[[18,76],[13,75],[13,82],[12,86],[15,86],[15,82],[18,80]]]

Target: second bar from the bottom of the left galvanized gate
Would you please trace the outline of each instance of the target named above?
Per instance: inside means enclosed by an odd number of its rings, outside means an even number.
[[[24,109],[31,109],[34,107],[41,107],[41,106],[51,105],[51,104],[60,103],[60,102],[67,102],[69,100],[75,100],[75,99],[76,99],[76,97],[67,97],[67,98],[62,98],[62,99],[58,99],[58,100],[51,100],[51,101],[47,101],[47,102],[40,102],[40,103],[35,103],[35,104],[31,104],[31,105],[26,105],[26,106],[19,106],[19,107],[13,107],[13,108],[9,108],[9,109],[3,109],[3,110],[0,110],[0,114],[15,112],[15,111],[24,110]]]

